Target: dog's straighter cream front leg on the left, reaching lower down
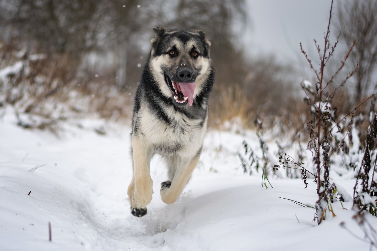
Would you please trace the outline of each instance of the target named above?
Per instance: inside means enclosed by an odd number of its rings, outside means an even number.
[[[152,200],[153,181],[149,173],[151,155],[143,137],[132,136],[133,179],[129,187],[131,213],[141,217],[147,213],[147,205]],[[130,191],[131,190],[131,191]],[[131,194],[133,190],[133,195]]]

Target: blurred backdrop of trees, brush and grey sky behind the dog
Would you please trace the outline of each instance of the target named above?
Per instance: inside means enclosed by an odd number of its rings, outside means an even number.
[[[335,43],[340,34],[340,53],[333,68],[354,40],[345,68],[359,62],[337,97],[341,114],[376,84],[376,2],[334,2],[330,38]],[[166,26],[202,29],[211,41],[216,83],[210,127],[253,128],[259,119],[283,131],[303,128],[308,106],[300,83],[316,81],[300,42],[317,66],[313,38],[323,46],[330,5],[329,0],[0,0],[0,107],[13,106],[24,127],[88,114],[128,120],[152,27]]]

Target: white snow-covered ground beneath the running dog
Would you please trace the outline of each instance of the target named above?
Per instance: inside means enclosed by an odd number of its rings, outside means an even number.
[[[300,179],[242,173],[236,155],[245,135],[210,131],[201,161],[175,204],[166,205],[159,187],[166,170],[151,163],[155,191],[148,214],[132,216],[127,186],[132,167],[130,128],[101,120],[65,122],[59,138],[15,125],[11,112],[0,118],[0,250],[367,250],[352,236],[363,232],[352,220],[351,202],[333,204],[336,217],[317,226],[316,186]],[[34,168],[33,168],[34,167]],[[348,193],[354,182],[336,177]],[[28,195],[31,191],[30,195]],[[375,218],[368,218],[377,225]],[[51,222],[52,241],[49,241]],[[319,241],[320,239],[320,241]],[[319,244],[320,243],[320,244]]]

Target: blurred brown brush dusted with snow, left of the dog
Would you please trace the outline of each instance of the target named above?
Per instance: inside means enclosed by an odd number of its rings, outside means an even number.
[[[15,40],[0,42],[0,108],[15,108],[18,125],[53,129],[60,120],[93,114],[127,117],[129,90],[119,91],[115,69],[96,74],[67,53],[48,55]]]

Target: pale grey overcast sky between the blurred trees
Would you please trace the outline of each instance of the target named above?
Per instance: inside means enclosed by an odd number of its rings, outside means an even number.
[[[247,0],[245,47],[250,55],[274,53],[280,60],[303,59],[299,43],[315,51],[313,38],[323,48],[330,0]],[[336,2],[334,3],[336,7]],[[333,16],[336,19],[336,13]],[[335,32],[335,29],[334,29]]]

